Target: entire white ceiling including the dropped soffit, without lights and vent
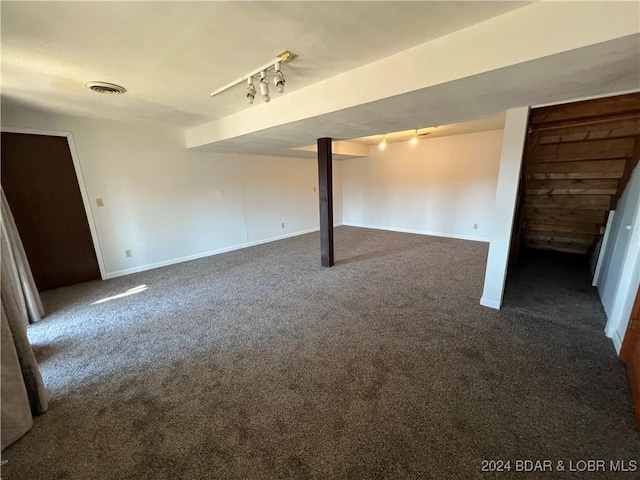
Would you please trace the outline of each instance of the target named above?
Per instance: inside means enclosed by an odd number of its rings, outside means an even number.
[[[0,5],[3,110],[161,123],[201,151],[313,156],[292,149],[496,129],[508,108],[640,89],[634,2]],[[297,58],[270,104],[241,85],[209,96],[284,49]]]

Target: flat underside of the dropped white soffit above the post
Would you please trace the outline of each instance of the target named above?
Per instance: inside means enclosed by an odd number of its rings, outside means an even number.
[[[638,91],[639,40],[638,35],[623,37],[194,148],[313,157],[313,152],[291,149],[321,137],[363,141],[372,133],[379,138],[436,125],[451,135],[493,130],[509,108]],[[269,110],[275,106],[272,102]]]

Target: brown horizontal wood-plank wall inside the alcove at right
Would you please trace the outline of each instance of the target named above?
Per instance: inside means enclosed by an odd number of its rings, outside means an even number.
[[[640,93],[531,110],[519,238],[588,253],[640,157]]]

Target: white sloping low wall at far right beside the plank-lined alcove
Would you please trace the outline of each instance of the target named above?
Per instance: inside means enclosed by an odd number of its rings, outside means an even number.
[[[608,318],[605,331],[619,352],[640,283],[640,166],[618,201],[610,228],[597,287]]]

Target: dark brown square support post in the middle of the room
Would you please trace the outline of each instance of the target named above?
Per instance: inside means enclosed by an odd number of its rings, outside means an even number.
[[[331,139],[318,139],[318,192],[320,195],[320,258],[333,266],[333,155]]]

